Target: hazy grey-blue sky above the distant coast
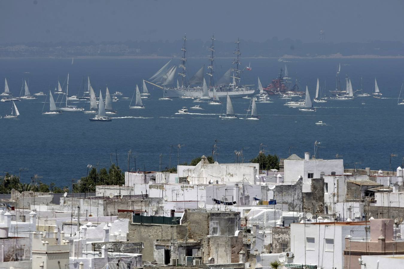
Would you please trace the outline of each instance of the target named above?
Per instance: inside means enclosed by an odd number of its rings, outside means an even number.
[[[404,0],[0,0],[0,43],[208,40],[404,42]]]

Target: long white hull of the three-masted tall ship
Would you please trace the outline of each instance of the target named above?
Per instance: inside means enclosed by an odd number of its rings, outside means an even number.
[[[166,91],[166,96],[170,96],[171,98],[179,98],[182,96],[189,96],[193,98],[201,98],[203,97],[202,88],[164,88]],[[250,90],[246,88],[240,88],[240,90],[231,90],[231,91],[216,91],[218,98],[226,98],[227,94],[231,98],[242,98],[245,96],[253,96],[255,94],[255,90]],[[209,98],[213,98],[213,92],[209,92]]]

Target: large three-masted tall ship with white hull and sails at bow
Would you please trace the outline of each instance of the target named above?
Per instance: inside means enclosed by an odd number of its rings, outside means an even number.
[[[214,78],[214,61],[215,61],[215,36],[213,35],[211,38],[212,43],[209,48],[210,56],[209,56],[209,65],[208,65],[208,73],[206,73],[208,81],[208,94],[209,98],[213,98],[213,87],[215,86],[217,97],[226,98],[227,94],[231,96],[231,98],[241,98],[245,96],[252,96],[255,93],[255,90],[250,88],[252,85],[241,85],[241,73],[244,69],[241,70],[241,61],[240,61],[240,40],[238,39],[235,44],[236,50],[233,52],[236,57],[233,60],[233,67],[226,71],[226,73],[219,80],[215,81]],[[204,81],[204,66],[201,67],[195,75],[193,75],[190,79],[187,77],[187,38],[186,35],[183,37],[183,46],[181,48],[181,58],[180,64],[178,66],[171,65],[171,60],[168,61],[157,73],[155,73],[152,77],[149,78],[149,81],[146,81],[158,88],[164,90],[164,95],[168,97],[192,97],[192,98],[203,98],[203,81]],[[177,69],[179,72],[177,73]],[[177,80],[175,81],[175,77]],[[175,83],[176,82],[176,83]],[[160,85],[159,85],[160,84]],[[206,93],[205,93],[206,95]]]

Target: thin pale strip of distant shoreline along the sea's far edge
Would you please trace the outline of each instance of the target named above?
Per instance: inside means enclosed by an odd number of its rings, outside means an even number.
[[[156,55],[144,55],[144,56],[73,56],[73,57],[56,57],[56,56],[21,56],[21,57],[1,57],[0,60],[17,60],[17,59],[171,59],[170,56],[156,56]],[[177,57],[174,57],[177,58]],[[188,57],[192,59],[204,59],[206,57]],[[233,57],[216,57],[217,59],[230,59]],[[342,54],[330,54],[330,55],[319,55],[319,56],[295,56],[285,54],[281,57],[243,57],[245,59],[403,59],[404,55],[342,55]]]

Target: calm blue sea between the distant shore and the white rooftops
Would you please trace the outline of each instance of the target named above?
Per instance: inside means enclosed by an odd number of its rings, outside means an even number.
[[[23,77],[29,78],[32,93],[48,92],[49,87],[53,91],[58,77],[63,83],[69,72],[69,93],[77,94],[83,76],[89,75],[97,95],[99,88],[104,94],[108,85],[111,93],[120,91],[132,97],[136,83],[141,87],[141,79],[150,77],[166,61],[78,58],[71,65],[71,59],[1,59],[0,78],[4,81],[4,77],[9,77],[11,91],[19,96]],[[244,84],[257,84],[257,76],[267,84],[285,65],[275,59],[244,59],[243,64],[248,62],[252,71],[244,72]],[[161,167],[169,166],[170,145],[173,145],[171,163],[176,165],[178,144],[184,145],[179,149],[182,163],[202,154],[210,155],[215,140],[219,162],[234,162],[234,151],[242,149],[248,161],[258,154],[261,143],[268,153],[287,157],[290,152],[303,157],[305,151],[313,154],[314,142],[319,141],[320,158],[342,155],[347,168],[358,163],[357,167],[389,169],[391,153],[397,154],[391,160],[392,167],[401,165],[404,106],[397,105],[397,97],[404,78],[404,60],[292,60],[286,64],[290,76],[299,77],[301,87],[307,84],[314,97],[317,77],[321,85],[326,81],[326,93],[335,89],[335,71],[340,62],[342,83],[347,74],[356,90],[362,76],[364,90],[371,92],[377,77],[383,97],[388,99],[329,100],[314,103],[318,107],[315,113],[304,113],[283,106],[285,100],[273,97],[274,103],[257,103],[260,121],[223,120],[219,114],[225,108],[207,103],[201,104],[205,110],[191,111],[200,115],[176,115],[183,106],[196,103],[181,99],[159,101],[161,90],[149,87],[151,100],[143,100],[145,109],[130,110],[130,100],[119,100],[113,103],[118,115],[112,116],[119,118],[109,123],[90,122],[88,118],[92,115],[84,113],[41,115],[45,97],[22,100],[17,102],[21,114],[17,120],[0,119],[0,173],[18,174],[19,169],[28,168],[21,172],[24,182],[38,174],[46,183],[63,186],[69,185],[73,178],[85,176],[88,164],[109,167],[117,157],[118,165],[126,170],[129,150],[132,150],[130,169],[135,169],[136,159],[136,169],[157,170],[160,154]],[[188,64],[192,73],[208,61],[189,59]],[[222,75],[230,64],[231,59],[218,59],[217,75]],[[245,116],[249,103],[246,99],[233,100],[240,117]],[[85,102],[74,104],[84,107]],[[0,115],[10,113],[10,108],[10,102],[1,102]],[[317,126],[317,121],[324,121],[327,126]]]

